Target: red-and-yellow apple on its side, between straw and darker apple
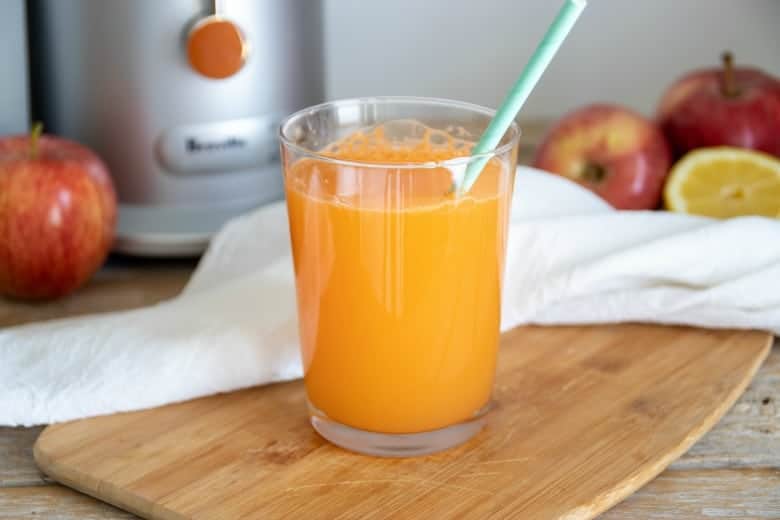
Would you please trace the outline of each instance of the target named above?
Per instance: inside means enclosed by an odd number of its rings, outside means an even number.
[[[534,166],[568,177],[615,208],[655,209],[670,161],[652,121],[616,105],[589,105],[561,119]]]

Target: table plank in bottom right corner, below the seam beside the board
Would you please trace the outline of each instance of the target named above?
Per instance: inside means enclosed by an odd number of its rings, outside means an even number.
[[[666,471],[602,518],[780,518],[780,470]]]

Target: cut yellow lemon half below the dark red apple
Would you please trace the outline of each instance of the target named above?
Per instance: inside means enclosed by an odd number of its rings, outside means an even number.
[[[741,148],[700,148],[674,165],[667,209],[715,218],[780,218],[780,160]]]

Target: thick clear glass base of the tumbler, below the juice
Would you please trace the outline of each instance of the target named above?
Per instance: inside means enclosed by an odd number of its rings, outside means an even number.
[[[474,418],[446,428],[420,433],[376,433],[333,421],[309,403],[310,421],[327,440],[346,450],[379,457],[416,457],[463,444],[485,425],[485,406]]]

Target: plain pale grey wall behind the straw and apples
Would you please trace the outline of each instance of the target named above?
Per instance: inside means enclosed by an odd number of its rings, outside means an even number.
[[[328,98],[438,96],[497,106],[561,0],[326,0]],[[522,118],[610,101],[648,115],[722,50],[780,76],[780,0],[591,0]]]

